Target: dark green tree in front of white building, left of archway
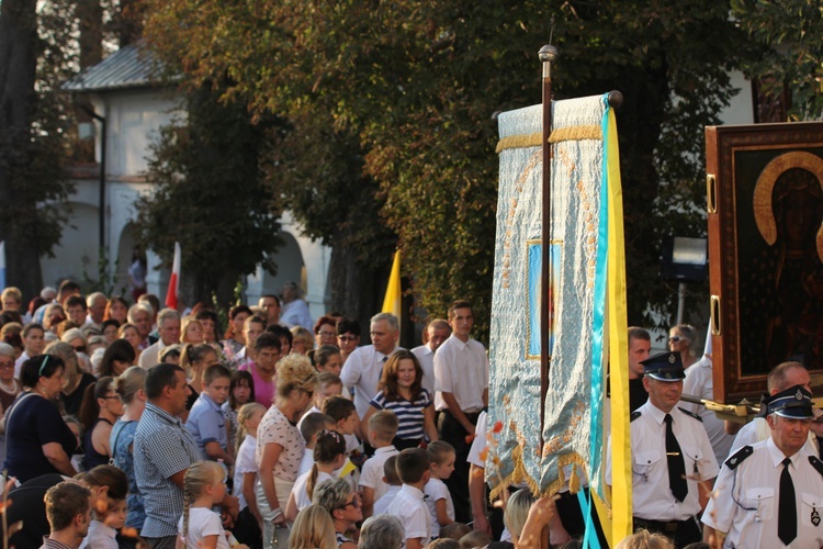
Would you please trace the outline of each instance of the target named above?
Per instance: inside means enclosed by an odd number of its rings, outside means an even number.
[[[151,147],[153,192],[136,204],[139,242],[171,265],[180,243],[183,299],[193,305],[232,301],[243,274],[281,245],[281,209],[261,167],[267,132],[274,121],[251,124],[245,105],[218,103],[219,90],[204,86],[185,98],[185,119],[160,130]]]

